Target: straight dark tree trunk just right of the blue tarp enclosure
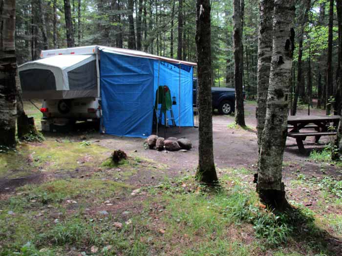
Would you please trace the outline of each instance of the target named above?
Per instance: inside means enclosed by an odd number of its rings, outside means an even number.
[[[211,93],[210,1],[196,0],[196,52],[199,105],[199,145],[196,178],[206,183],[217,181],[213,150]]]

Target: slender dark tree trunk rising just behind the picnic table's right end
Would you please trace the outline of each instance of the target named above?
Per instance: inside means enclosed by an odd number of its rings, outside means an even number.
[[[330,97],[333,96],[333,69],[332,69],[332,53],[333,53],[333,19],[334,19],[334,0],[329,0],[329,24],[328,24],[328,59],[326,73],[326,115],[330,115],[331,102]]]

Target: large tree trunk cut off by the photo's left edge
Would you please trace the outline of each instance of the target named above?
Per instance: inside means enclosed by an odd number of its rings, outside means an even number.
[[[15,53],[16,1],[0,4],[0,146],[16,144],[16,73]]]

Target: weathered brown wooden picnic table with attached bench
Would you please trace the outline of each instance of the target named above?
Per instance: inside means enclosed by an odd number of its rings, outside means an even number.
[[[287,118],[288,137],[296,138],[300,153],[305,153],[303,140],[306,137],[315,137],[318,143],[321,136],[335,136],[336,131],[328,131],[331,123],[337,128],[340,116],[289,116]],[[301,129],[314,129],[310,132],[301,132]]]

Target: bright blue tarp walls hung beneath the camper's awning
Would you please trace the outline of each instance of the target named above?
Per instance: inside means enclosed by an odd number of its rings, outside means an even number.
[[[172,105],[176,125],[193,126],[192,66],[107,49],[101,49],[100,59],[102,123],[107,134],[148,137],[158,85],[167,85],[176,98]]]

